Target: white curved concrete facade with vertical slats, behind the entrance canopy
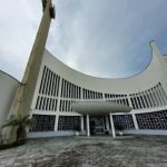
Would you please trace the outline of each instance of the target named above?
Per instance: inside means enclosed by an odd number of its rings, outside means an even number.
[[[131,107],[129,114],[122,111],[101,118],[104,129],[114,137],[116,124],[125,126],[127,134],[154,131],[166,135],[167,57],[160,53],[154,41],[150,47],[153,58],[148,67],[136,76],[122,79],[87,76],[45,50],[30,106],[30,114],[36,120],[33,132],[30,132],[33,135],[30,136],[36,137],[36,132],[37,137],[42,132],[47,136],[50,131],[53,136],[66,135],[67,131],[72,134],[77,126],[88,136],[91,135],[91,116],[76,112],[71,107],[73,101],[109,101]],[[160,130],[165,132],[158,132]]]

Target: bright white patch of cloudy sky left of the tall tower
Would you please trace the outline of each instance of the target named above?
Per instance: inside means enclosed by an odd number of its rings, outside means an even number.
[[[21,80],[40,21],[40,0],[6,0],[0,7],[0,69]]]

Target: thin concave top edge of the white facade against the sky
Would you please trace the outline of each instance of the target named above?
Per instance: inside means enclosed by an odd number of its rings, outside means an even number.
[[[155,40],[151,40],[151,41],[149,42],[149,45],[150,45],[151,42],[155,42]],[[58,59],[58,58],[55,57],[53,53],[51,53],[48,49],[46,49],[46,50],[47,50],[53,58]],[[58,60],[59,60],[59,59],[58,59]],[[135,73],[135,75],[132,75],[132,76],[126,77],[126,78],[124,78],[124,77],[122,77],[122,78],[102,78],[102,77],[95,77],[95,76],[90,76],[90,75],[84,73],[84,72],[81,72],[81,71],[79,71],[79,70],[76,70],[76,69],[69,67],[68,65],[66,65],[65,62],[62,62],[61,60],[59,60],[59,61],[60,61],[61,63],[63,63],[65,66],[67,66],[68,68],[72,69],[72,70],[75,70],[75,71],[77,71],[77,72],[79,72],[79,73],[81,73],[81,75],[91,77],[91,78],[106,79],[106,80],[109,80],[109,79],[112,79],[112,80],[121,80],[121,79],[134,78],[134,77],[136,77],[136,76],[141,75],[143,72],[145,72],[145,71],[147,70],[147,68],[151,65],[151,61],[153,61],[153,49],[151,49],[151,55],[150,55],[150,61],[149,61],[148,65],[145,67],[145,69],[143,69],[141,71],[139,71],[139,72],[137,72],[137,73]]]

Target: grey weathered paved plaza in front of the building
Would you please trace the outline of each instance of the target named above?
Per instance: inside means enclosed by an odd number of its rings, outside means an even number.
[[[167,167],[167,137],[57,137],[0,150],[0,167]]]

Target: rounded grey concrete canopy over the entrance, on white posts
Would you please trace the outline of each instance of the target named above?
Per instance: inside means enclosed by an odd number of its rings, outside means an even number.
[[[77,101],[72,102],[73,110],[81,115],[109,115],[110,112],[129,112],[132,108],[108,101]]]

